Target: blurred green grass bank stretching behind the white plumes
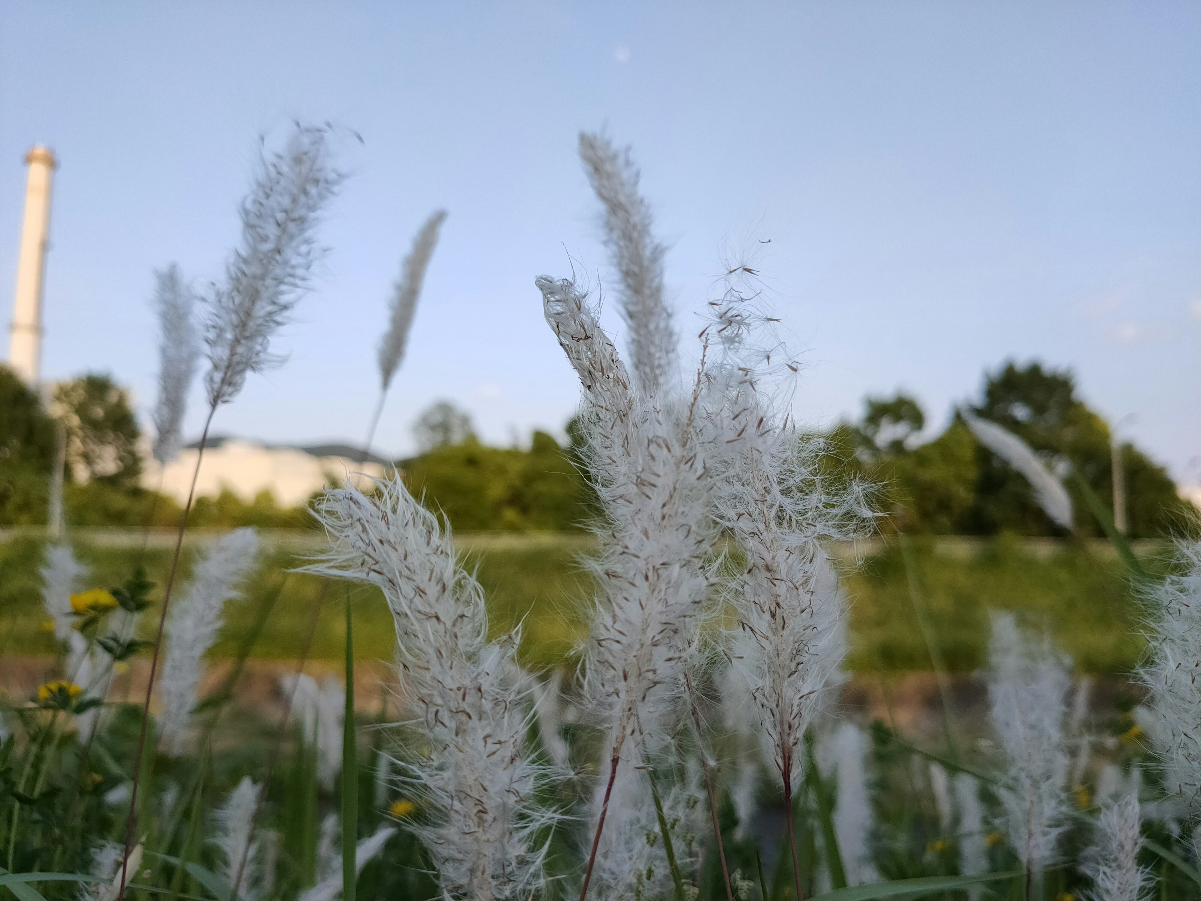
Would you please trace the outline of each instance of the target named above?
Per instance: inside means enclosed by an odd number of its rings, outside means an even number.
[[[522,623],[524,662],[536,669],[561,664],[585,632],[590,585],[576,560],[586,539],[468,536],[462,544],[488,591],[494,628]],[[41,607],[41,548],[42,542],[31,537],[0,544],[0,654],[54,652]],[[76,550],[92,567],[90,584],[100,586],[120,584],[143,556],[139,547],[83,541]],[[1036,550],[1005,537],[955,548],[914,539],[907,566],[901,545],[888,543],[844,580],[852,598],[849,668],[858,673],[930,669],[918,615],[925,610],[928,633],[946,668],[970,672],[984,663],[988,611],[1008,609],[1050,628],[1080,670],[1129,672],[1142,650],[1139,609],[1113,555],[1068,542]],[[185,580],[193,556],[195,549],[185,547]],[[151,547],[144,560],[157,583],[154,597],[160,598],[171,551]],[[303,562],[297,550],[264,556],[245,597],[227,608],[226,628],[214,654],[233,656],[240,643],[253,638],[253,656],[295,657],[319,604],[311,656],[337,658],[343,648],[342,604],[349,597],[358,655],[389,658],[392,621],[378,592],[288,572]],[[149,631],[150,617],[144,625]]]

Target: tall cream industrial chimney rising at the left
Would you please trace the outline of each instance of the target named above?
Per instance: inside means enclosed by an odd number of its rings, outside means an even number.
[[[25,221],[20,229],[20,257],[17,261],[8,365],[30,388],[36,389],[42,375],[42,281],[50,233],[50,180],[56,163],[54,154],[46,147],[30,150],[25,162],[29,165],[29,181],[25,185]]]

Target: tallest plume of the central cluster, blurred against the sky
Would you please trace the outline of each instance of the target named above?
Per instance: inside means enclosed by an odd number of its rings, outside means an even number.
[[[643,394],[658,394],[675,375],[676,333],[663,299],[665,247],[655,240],[651,210],[638,192],[631,151],[604,135],[580,132],[580,160],[604,205],[605,244],[621,276],[621,312],[631,362]]]

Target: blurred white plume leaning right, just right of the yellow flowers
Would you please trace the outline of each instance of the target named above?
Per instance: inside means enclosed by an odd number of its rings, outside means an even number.
[[[187,750],[187,726],[196,706],[201,664],[216,640],[227,601],[238,597],[239,584],[250,574],[258,555],[258,533],[235,529],[202,551],[192,580],[167,617],[167,648],[162,679],[162,741],[173,754]]]

